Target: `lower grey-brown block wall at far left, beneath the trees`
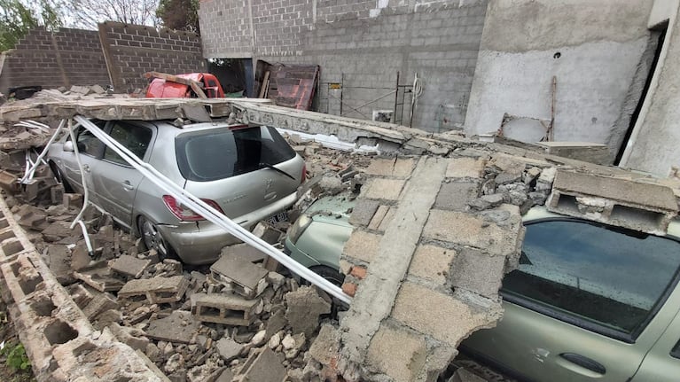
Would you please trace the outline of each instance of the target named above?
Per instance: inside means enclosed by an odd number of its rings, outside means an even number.
[[[43,88],[110,82],[97,32],[37,27],[4,52],[0,65],[0,92],[9,88],[40,85]]]

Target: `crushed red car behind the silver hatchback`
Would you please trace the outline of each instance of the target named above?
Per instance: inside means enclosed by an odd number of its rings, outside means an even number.
[[[172,81],[173,78],[185,79],[203,84],[203,92],[208,98],[224,97],[222,85],[213,74],[187,73],[177,75],[165,75],[165,78],[154,78],[146,90],[147,98],[186,98],[199,97],[191,90],[189,82]]]

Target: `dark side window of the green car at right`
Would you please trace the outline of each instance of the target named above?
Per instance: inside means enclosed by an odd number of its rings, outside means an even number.
[[[592,222],[527,223],[506,300],[633,342],[676,284],[680,243]]]

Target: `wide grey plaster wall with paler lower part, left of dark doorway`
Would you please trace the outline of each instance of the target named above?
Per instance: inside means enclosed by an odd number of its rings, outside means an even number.
[[[652,5],[653,0],[490,2],[465,131],[496,132],[505,113],[550,121],[555,76],[554,140],[607,144],[615,154],[639,99],[638,90],[631,101],[629,90],[644,84],[653,54],[647,49],[653,42],[647,29]],[[522,129],[512,134],[528,142],[535,138]]]

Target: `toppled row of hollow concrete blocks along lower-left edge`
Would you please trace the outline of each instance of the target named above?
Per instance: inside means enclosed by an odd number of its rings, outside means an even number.
[[[110,331],[95,331],[88,317],[52,275],[26,233],[0,199],[3,243],[19,243],[0,251],[0,290],[38,381],[74,379],[161,381],[135,351]],[[12,235],[8,234],[12,230]],[[3,246],[4,249],[5,246]],[[101,365],[106,364],[106,368]]]

